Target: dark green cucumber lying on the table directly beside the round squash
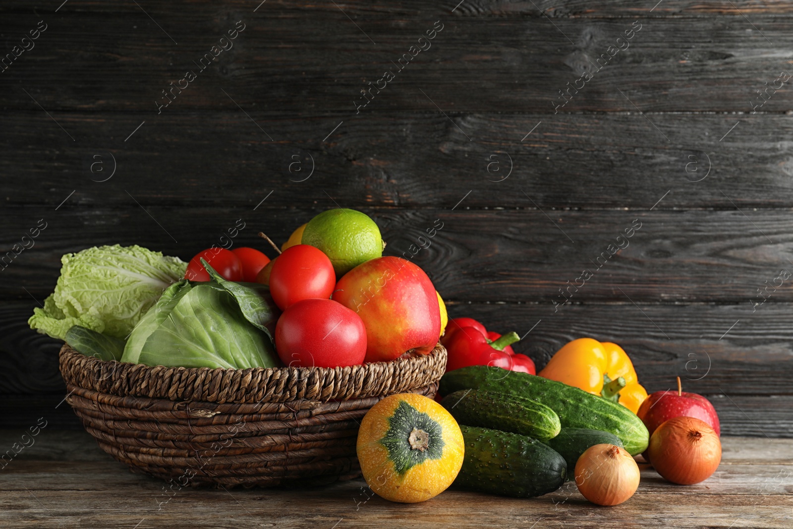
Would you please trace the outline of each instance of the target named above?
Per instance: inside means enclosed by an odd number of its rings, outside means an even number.
[[[565,483],[565,458],[525,435],[460,425],[465,458],[454,485],[480,493],[530,498]]]

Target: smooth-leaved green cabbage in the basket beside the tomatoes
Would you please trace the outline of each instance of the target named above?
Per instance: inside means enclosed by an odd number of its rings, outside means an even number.
[[[272,342],[278,308],[258,283],[213,281],[169,286],[129,335],[121,362],[167,367],[279,366]]]

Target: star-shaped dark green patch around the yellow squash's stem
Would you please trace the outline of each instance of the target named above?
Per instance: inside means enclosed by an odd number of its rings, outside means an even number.
[[[389,450],[394,470],[403,475],[427,459],[443,454],[443,429],[424,412],[402,401],[389,417],[389,429],[380,443]]]

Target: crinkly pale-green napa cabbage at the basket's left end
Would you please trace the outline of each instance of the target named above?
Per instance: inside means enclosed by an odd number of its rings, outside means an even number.
[[[31,328],[65,339],[75,325],[125,339],[187,263],[140,246],[102,246],[63,255],[55,292],[33,309]]]

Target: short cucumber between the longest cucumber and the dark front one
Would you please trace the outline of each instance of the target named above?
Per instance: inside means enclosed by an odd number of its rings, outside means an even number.
[[[446,395],[441,405],[458,424],[511,431],[540,441],[555,437],[561,429],[554,410],[520,395],[461,389]]]

